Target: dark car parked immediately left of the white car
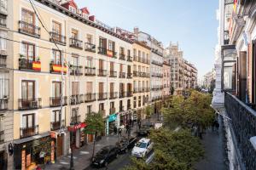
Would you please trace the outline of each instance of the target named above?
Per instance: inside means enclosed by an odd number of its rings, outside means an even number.
[[[119,147],[119,153],[127,153],[136,143],[137,137],[131,137],[130,139],[121,139],[116,145]]]

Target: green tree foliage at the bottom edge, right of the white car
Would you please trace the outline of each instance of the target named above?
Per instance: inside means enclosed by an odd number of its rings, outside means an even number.
[[[150,164],[144,160],[132,158],[133,164],[126,170],[190,170],[191,165],[204,154],[199,139],[188,130],[173,132],[168,128],[160,128],[150,133],[154,142],[154,159]]]

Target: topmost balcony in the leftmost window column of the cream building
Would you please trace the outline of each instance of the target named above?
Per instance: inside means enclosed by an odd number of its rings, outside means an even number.
[[[32,37],[40,37],[41,28],[19,20],[19,32]]]

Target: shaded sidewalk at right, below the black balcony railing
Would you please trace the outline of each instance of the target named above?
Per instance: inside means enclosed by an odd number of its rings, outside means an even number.
[[[224,131],[223,122],[218,119],[218,132],[212,132],[212,129],[207,129],[206,134],[201,140],[205,147],[205,158],[195,164],[197,170],[226,170],[228,169],[224,163]]]

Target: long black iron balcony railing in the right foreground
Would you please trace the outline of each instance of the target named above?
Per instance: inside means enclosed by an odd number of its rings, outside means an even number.
[[[256,136],[256,111],[229,93],[224,94],[224,105],[227,115],[231,119],[230,126],[236,138],[236,147],[240,150],[242,161],[246,167],[256,169],[256,152],[249,141],[251,137]]]

